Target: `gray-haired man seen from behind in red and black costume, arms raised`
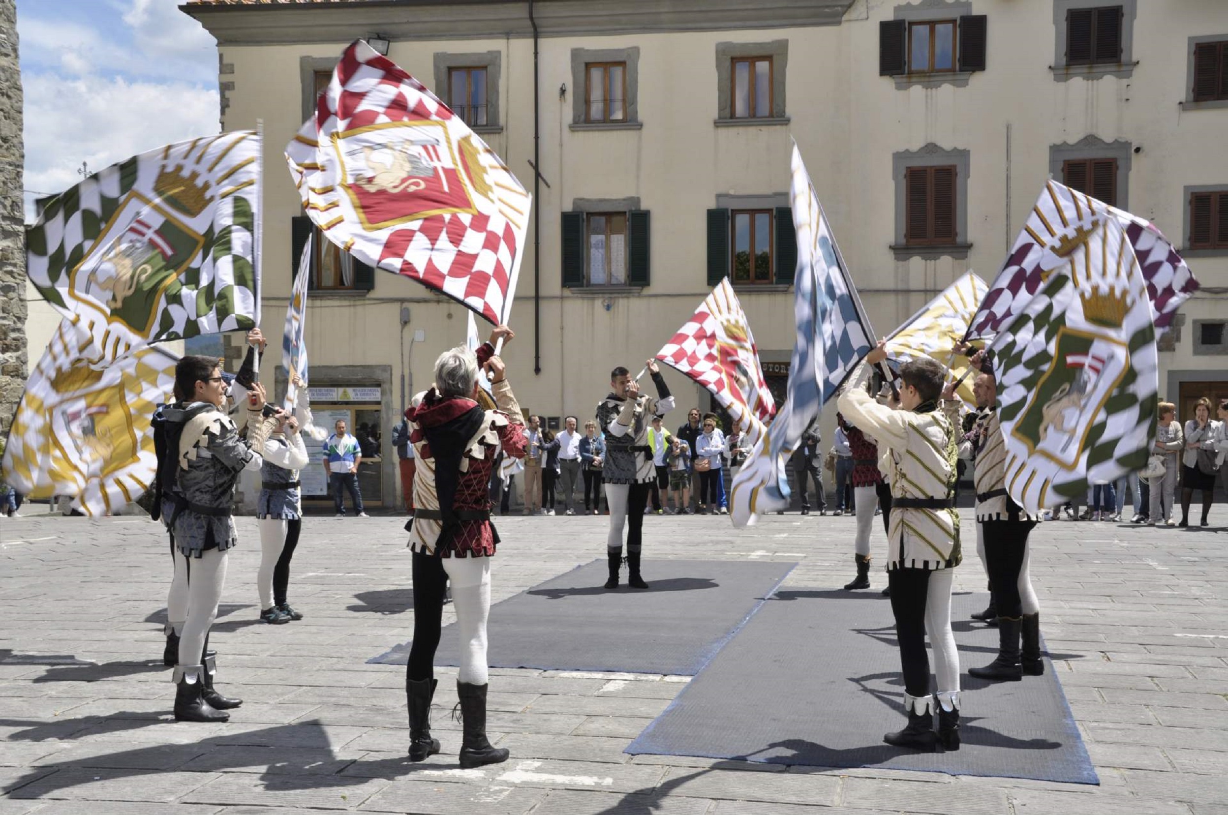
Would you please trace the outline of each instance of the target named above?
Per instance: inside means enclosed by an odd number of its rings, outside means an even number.
[[[405,411],[419,462],[414,518],[408,527],[414,552],[414,644],[405,666],[410,761],[440,751],[438,740],[431,738],[430,713],[437,685],[435,649],[449,581],[460,632],[460,766],[499,763],[508,756],[486,739],[486,617],[491,560],[499,544],[499,533],[490,523],[488,490],[500,447],[505,455],[521,459],[527,438],[503,362],[495,356],[500,336],[506,344],[513,334],[500,325],[476,356],[464,346],[441,353],[435,362],[435,387]],[[495,410],[478,404],[479,365],[490,377]]]

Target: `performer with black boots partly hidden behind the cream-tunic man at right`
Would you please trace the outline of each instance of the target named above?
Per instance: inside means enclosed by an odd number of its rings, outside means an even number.
[[[971,367],[981,372],[973,383],[980,410],[973,430],[960,443],[960,455],[975,462],[977,543],[984,546],[981,557],[990,576],[998,653],[989,665],[971,668],[968,674],[1018,681],[1023,674],[1045,673],[1040,659],[1040,604],[1028,573],[1028,535],[1040,516],[1025,512],[1007,493],[1006,441],[997,414],[993,367],[982,351],[973,356]],[[947,385],[943,399],[958,405],[954,383]]]

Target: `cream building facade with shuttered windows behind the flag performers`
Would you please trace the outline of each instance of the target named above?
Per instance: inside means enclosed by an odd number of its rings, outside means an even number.
[[[311,232],[284,145],[356,38],[452,104],[537,193],[507,350],[521,405],[594,412],[728,275],[774,390],[793,346],[796,140],[874,329],[987,281],[1051,176],[1156,222],[1202,291],[1162,394],[1228,396],[1228,17],[1221,0],[195,0],[222,126],[263,120],[265,330]],[[532,14],[532,18],[530,18]],[[534,167],[539,172],[534,183]],[[317,245],[319,242],[317,242]],[[384,438],[465,311],[325,244],[316,404]],[[278,355],[263,372],[275,376]],[[710,399],[675,372],[668,417]],[[350,399],[340,399],[343,392]],[[357,399],[355,394],[363,396]],[[834,410],[825,411],[830,439]],[[365,475],[393,503],[395,464]]]

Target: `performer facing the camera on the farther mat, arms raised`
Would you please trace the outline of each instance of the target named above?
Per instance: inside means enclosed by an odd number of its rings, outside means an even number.
[[[623,527],[626,534],[628,585],[646,589],[640,576],[640,551],[643,543],[643,508],[657,477],[648,446],[648,425],[653,416],[664,416],[674,408],[666,378],[656,360],[648,360],[648,373],[657,388],[656,396],[641,395],[640,383],[623,366],[610,371],[610,393],[597,405],[597,427],[605,433],[605,502],[610,508],[610,530],[605,539],[609,578],[605,588],[618,588],[623,562]]]

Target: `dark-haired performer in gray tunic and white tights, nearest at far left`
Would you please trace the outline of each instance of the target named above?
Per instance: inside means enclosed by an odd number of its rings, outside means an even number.
[[[185,356],[176,365],[173,405],[155,425],[158,448],[161,509],[176,546],[176,583],[187,587],[187,609],[173,674],[177,685],[174,718],[181,722],[225,722],[227,709],[242,705],[214,690],[215,662],[208,652],[209,628],[217,616],[226,581],[228,550],[238,540],[231,518],[235,486],[244,470],[259,471],[260,450],[279,423],[265,411],[264,389],[251,384],[247,438],[222,412],[226,383],[217,361]],[[266,415],[271,411],[273,415]],[[172,588],[172,594],[177,594]],[[174,617],[174,609],[171,609]]]

